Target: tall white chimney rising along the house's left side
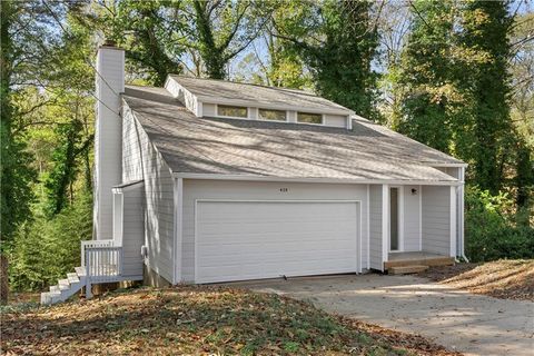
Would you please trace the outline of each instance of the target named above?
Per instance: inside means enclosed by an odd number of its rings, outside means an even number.
[[[97,53],[97,119],[95,128],[93,239],[112,238],[111,188],[121,184],[122,119],[120,93],[125,91],[125,51],[106,41]]]

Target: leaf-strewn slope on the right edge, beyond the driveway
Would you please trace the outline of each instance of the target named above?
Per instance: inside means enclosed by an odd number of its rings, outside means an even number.
[[[474,294],[534,301],[534,259],[432,267],[419,275]]]

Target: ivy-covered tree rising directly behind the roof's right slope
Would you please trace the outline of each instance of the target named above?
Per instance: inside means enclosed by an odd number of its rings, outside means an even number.
[[[413,3],[412,32],[397,77],[402,106],[396,129],[444,152],[452,150],[453,127],[457,115],[465,113],[458,109],[467,103],[456,86],[462,65],[454,60],[456,10],[449,0]]]

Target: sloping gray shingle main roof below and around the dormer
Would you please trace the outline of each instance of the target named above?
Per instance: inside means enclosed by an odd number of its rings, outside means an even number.
[[[123,100],[175,172],[350,180],[456,179],[432,165],[462,161],[365,119],[353,130],[197,118],[164,88]]]

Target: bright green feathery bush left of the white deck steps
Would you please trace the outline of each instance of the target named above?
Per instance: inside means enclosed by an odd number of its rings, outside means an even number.
[[[92,202],[81,196],[51,219],[38,217],[16,233],[10,249],[13,290],[42,290],[80,264],[80,240],[92,235]]]

